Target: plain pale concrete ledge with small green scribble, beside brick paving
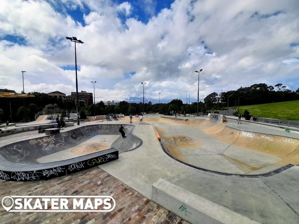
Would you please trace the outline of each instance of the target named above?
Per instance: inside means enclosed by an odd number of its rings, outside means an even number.
[[[152,200],[194,224],[260,224],[162,178],[152,185]]]

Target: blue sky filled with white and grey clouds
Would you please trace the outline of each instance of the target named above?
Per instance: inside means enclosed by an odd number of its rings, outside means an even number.
[[[0,88],[20,93],[26,71],[25,93],[76,91],[73,36],[84,42],[78,90],[95,91],[96,103],[143,94],[145,103],[197,102],[198,88],[201,101],[255,83],[299,88],[298,0],[0,3]]]

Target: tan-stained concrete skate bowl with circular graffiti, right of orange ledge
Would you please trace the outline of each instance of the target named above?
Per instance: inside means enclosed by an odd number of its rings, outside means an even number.
[[[178,134],[173,135],[171,127],[155,125],[164,152],[193,168],[229,176],[263,177],[299,164],[299,139],[241,131],[208,118],[190,126],[174,125]]]

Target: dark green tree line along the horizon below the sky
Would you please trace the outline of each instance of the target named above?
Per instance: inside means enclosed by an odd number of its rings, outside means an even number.
[[[62,101],[60,98],[49,97],[47,93],[32,92],[35,97],[32,98],[0,98],[0,119],[2,123],[6,120],[10,122],[35,120],[35,114],[43,111],[46,105],[55,105],[60,110],[76,110],[74,102]],[[170,111],[180,113],[208,113],[216,110],[226,109],[227,106],[236,105],[255,105],[272,102],[283,102],[299,100],[299,88],[296,91],[288,90],[286,86],[278,83],[277,85],[268,86],[265,83],[254,84],[249,87],[240,87],[237,90],[230,90],[222,93],[211,93],[205,97],[204,102],[200,101],[190,104],[183,103],[180,99],[173,99],[169,103],[129,103],[126,101],[119,102],[117,106],[106,106],[101,101],[90,106],[79,108],[80,117],[104,115],[109,113],[122,114],[139,114],[161,113],[170,114]],[[144,108],[144,109],[143,109]],[[144,110],[144,111],[143,111]]]

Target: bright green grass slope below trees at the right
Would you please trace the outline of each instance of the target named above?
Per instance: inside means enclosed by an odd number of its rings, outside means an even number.
[[[245,110],[248,110],[251,116],[299,121],[299,100],[240,106],[239,113],[243,114]]]

